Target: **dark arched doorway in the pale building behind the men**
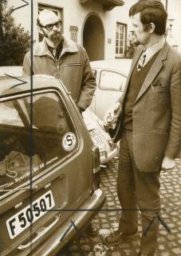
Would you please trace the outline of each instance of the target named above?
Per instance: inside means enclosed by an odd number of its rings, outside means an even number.
[[[104,59],[104,26],[96,14],[91,14],[85,21],[83,46],[90,61]]]

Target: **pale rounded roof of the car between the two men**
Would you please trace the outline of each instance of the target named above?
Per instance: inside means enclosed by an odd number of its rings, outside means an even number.
[[[130,58],[119,58],[91,62],[92,69],[115,70],[122,74],[125,74],[126,76],[128,76],[131,64],[132,59]]]

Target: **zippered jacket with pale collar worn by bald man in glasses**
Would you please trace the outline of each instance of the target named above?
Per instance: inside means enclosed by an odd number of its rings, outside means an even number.
[[[63,50],[56,60],[45,41],[33,45],[33,74],[48,74],[60,78],[71,92],[74,102],[85,110],[92,102],[96,79],[92,74],[85,48],[64,38]],[[23,61],[23,75],[30,75],[30,51]]]

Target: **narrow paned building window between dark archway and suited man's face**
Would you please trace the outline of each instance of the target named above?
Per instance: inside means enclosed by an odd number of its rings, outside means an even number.
[[[116,23],[116,58],[123,58],[126,47],[127,25]]]

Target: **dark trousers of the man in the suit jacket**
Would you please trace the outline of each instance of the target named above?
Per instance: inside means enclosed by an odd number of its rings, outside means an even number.
[[[155,254],[159,231],[159,220],[156,218],[160,210],[159,174],[140,172],[136,168],[132,132],[124,131],[120,141],[117,180],[117,193],[122,208],[119,230],[122,234],[136,232],[139,207],[143,228],[140,251],[149,255]]]

